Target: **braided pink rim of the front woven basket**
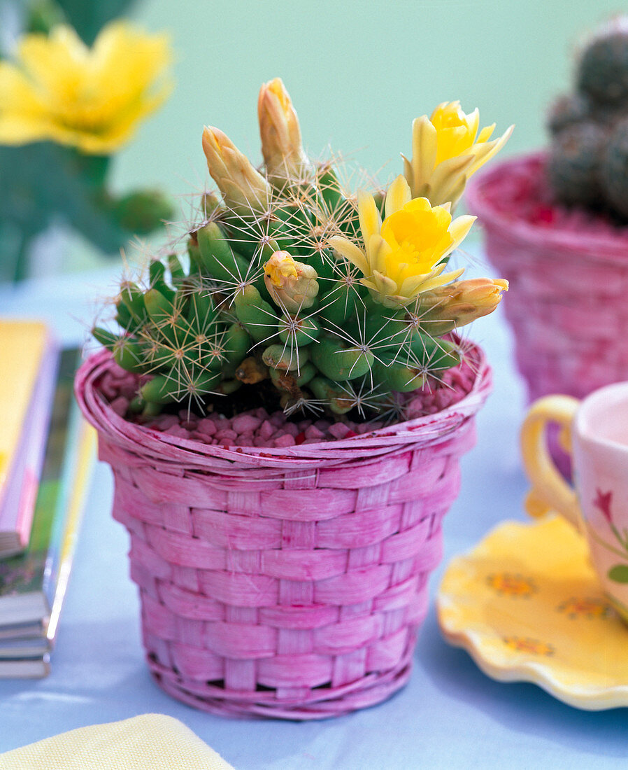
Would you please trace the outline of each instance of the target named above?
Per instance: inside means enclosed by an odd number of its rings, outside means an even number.
[[[163,434],[130,423],[115,413],[95,388],[95,381],[114,363],[108,350],[93,353],[79,367],[75,375],[75,398],[85,419],[99,434],[104,434],[108,440],[125,450],[144,457],[157,458],[161,462],[167,458],[174,464],[206,470],[216,470],[217,464],[225,469],[236,464],[284,470],[289,467],[321,467],[321,461],[339,464],[347,460],[388,454],[400,447],[427,447],[440,443],[473,417],[492,388],[492,371],[483,349],[469,340],[466,340],[466,343],[474,358],[473,370],[476,377],[469,393],[459,402],[425,417],[393,423],[366,434],[320,441],[316,444],[229,448]]]

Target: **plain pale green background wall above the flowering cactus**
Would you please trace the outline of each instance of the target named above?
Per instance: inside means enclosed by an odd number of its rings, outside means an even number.
[[[259,85],[280,75],[312,154],[327,143],[369,169],[400,170],[410,122],[441,101],[516,123],[508,153],[544,142],[543,112],[566,89],[571,55],[618,0],[140,0],[135,18],[169,29],[176,86],[116,160],[121,188],[176,194],[206,179],[202,126],[259,162]],[[506,154],[506,152],[504,152]]]

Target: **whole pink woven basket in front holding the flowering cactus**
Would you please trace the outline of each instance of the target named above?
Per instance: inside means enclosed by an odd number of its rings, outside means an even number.
[[[149,668],[170,695],[229,716],[316,719],[388,698],[409,678],[441,520],[490,390],[483,353],[463,400],[369,434],[222,448],[129,423],[75,390],[131,535]]]

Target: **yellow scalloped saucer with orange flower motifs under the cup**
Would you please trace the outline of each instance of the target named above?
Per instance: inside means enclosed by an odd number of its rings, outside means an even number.
[[[628,628],[580,535],[556,514],[505,521],[453,558],[436,606],[444,637],[499,681],[531,681],[597,711],[628,706]]]

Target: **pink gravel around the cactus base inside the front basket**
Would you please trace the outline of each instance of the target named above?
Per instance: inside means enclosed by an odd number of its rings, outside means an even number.
[[[462,363],[444,373],[439,381],[429,383],[422,390],[400,393],[399,404],[403,417],[399,419],[414,420],[451,406],[469,393],[474,379],[475,375],[469,363]],[[124,417],[129,402],[137,393],[139,378],[115,368],[105,374],[99,387],[112,410]],[[381,420],[355,423],[346,417],[341,417],[336,422],[324,417],[304,418],[295,423],[287,420],[283,412],[269,414],[263,407],[231,418],[217,412],[199,417],[184,409],[178,414],[166,413],[147,419],[142,417],[130,419],[135,419],[135,422],[150,430],[222,447],[293,447],[298,444],[351,438],[377,430],[385,424]]]

